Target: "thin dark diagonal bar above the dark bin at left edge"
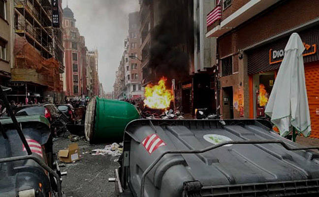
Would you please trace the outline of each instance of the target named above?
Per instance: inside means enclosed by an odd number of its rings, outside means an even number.
[[[27,152],[28,152],[28,155],[32,155],[32,151],[31,151],[31,149],[30,149],[30,147],[29,147],[29,144],[28,144],[28,142],[27,142],[27,140],[26,140],[26,137],[24,136],[24,134],[23,134],[23,132],[22,132],[22,129],[21,129],[21,127],[20,127],[20,125],[19,125],[17,119],[16,119],[16,117],[15,117],[14,114],[13,114],[12,108],[11,108],[11,106],[10,106],[10,104],[9,104],[9,101],[8,101],[8,99],[6,98],[6,96],[5,96],[5,94],[4,94],[4,92],[3,92],[1,86],[0,86],[0,97],[1,97],[1,99],[3,100],[3,102],[4,102],[4,105],[5,105],[6,109],[7,109],[7,112],[8,112],[8,114],[9,114],[9,116],[11,117],[11,120],[12,120],[12,122],[13,122],[13,125],[14,125],[14,127],[16,128],[16,130],[17,130],[17,132],[18,132],[18,134],[19,134],[19,136],[20,136],[20,139],[21,139],[23,145],[25,146],[25,148],[26,148],[26,150],[27,150]]]

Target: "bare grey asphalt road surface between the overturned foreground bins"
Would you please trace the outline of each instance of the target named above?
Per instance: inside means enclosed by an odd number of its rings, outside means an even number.
[[[57,138],[54,151],[57,153],[69,143],[73,142],[68,138]],[[67,171],[62,183],[66,197],[113,197],[114,183],[108,183],[108,178],[114,177],[114,169],[119,167],[114,162],[118,157],[91,155],[92,150],[102,149],[106,144],[90,145],[82,139],[76,143],[79,145],[81,160],[61,167],[61,171]]]

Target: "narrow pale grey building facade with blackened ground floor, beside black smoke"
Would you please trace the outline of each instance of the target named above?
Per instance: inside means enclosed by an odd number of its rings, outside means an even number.
[[[197,108],[216,113],[216,38],[206,37],[206,16],[215,7],[212,0],[194,0],[194,56],[191,66],[192,83],[182,87],[183,99],[192,95],[192,114]]]

